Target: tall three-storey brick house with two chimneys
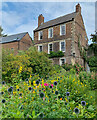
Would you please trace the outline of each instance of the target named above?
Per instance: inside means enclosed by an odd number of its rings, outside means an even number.
[[[48,22],[44,22],[42,14],[39,15],[38,27],[34,30],[34,44],[38,51],[48,54],[50,51],[63,51],[63,57],[52,59],[54,64],[74,64],[79,61],[84,66],[78,42],[83,49],[88,45],[80,4],[76,5],[75,12]]]

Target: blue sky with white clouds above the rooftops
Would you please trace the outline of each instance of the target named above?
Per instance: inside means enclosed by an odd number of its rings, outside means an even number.
[[[79,2],[88,39],[95,32],[95,2]],[[0,25],[3,33],[12,35],[28,32],[33,39],[33,30],[38,26],[38,16],[44,22],[75,12],[78,2],[2,2]],[[2,15],[1,15],[2,14]],[[89,41],[89,44],[91,42]]]

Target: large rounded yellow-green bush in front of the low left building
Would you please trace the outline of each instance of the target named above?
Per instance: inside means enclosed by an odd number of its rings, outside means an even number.
[[[20,67],[20,75],[17,76]],[[31,74],[36,73],[45,77],[48,73],[53,74],[51,61],[43,52],[38,52],[34,47],[27,51],[19,51],[14,56],[13,53],[3,51],[2,55],[2,79],[11,82],[13,79],[18,82],[19,79],[25,80]],[[17,81],[16,81],[17,79]]]

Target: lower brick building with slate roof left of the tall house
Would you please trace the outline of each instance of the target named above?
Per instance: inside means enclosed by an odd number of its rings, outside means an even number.
[[[33,45],[28,32],[2,37],[0,44],[4,49],[13,50],[15,54],[18,53],[18,50],[27,50]]]

